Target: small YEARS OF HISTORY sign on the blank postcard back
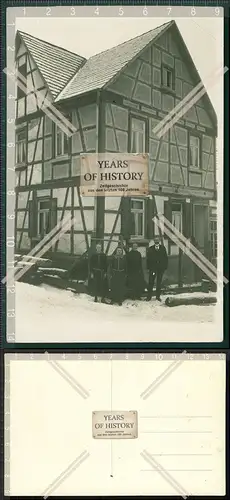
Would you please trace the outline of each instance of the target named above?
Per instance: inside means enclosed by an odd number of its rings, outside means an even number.
[[[96,439],[137,438],[137,411],[93,411],[93,437]]]

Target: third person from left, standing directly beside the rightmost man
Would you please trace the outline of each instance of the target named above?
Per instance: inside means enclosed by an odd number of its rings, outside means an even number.
[[[142,258],[138,252],[137,243],[133,243],[132,250],[127,254],[128,288],[133,300],[141,298],[145,288],[144,274],[142,269]]]

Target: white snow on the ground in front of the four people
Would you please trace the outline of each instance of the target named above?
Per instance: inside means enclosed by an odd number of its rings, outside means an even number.
[[[221,341],[215,327],[217,306],[167,307],[166,297],[161,303],[154,298],[126,300],[119,307],[69,290],[18,282],[16,342]]]

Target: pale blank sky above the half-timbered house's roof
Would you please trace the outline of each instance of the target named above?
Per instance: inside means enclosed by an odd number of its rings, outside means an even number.
[[[206,77],[223,67],[221,17],[60,18],[55,17],[55,8],[52,9],[52,17],[29,17],[29,10],[27,8],[25,17],[16,18],[16,30],[24,31],[86,58],[174,19],[204,84]],[[39,13],[39,8],[37,10]],[[218,115],[221,112],[221,84],[220,79],[215,86],[208,88]]]

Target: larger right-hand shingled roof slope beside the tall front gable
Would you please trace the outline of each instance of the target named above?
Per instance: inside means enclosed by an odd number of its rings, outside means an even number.
[[[162,24],[158,28],[90,57],[60,92],[56,102],[102,89],[158,35],[162,35],[172,22]]]

